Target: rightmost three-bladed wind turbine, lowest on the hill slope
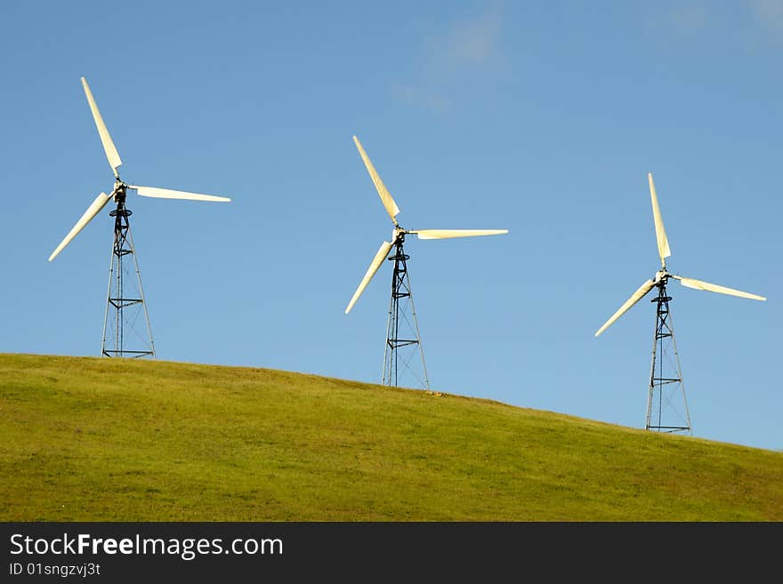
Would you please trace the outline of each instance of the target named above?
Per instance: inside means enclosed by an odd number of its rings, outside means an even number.
[[[672,300],[670,296],[666,295],[666,284],[668,284],[669,278],[679,280],[680,284],[688,288],[694,288],[696,290],[705,290],[707,292],[718,292],[720,294],[729,294],[731,296],[739,296],[740,298],[748,298],[751,300],[767,300],[763,296],[758,294],[751,294],[749,292],[741,292],[734,290],[733,288],[726,288],[725,286],[719,286],[717,284],[710,284],[709,282],[703,282],[702,280],[696,280],[694,278],[677,276],[669,273],[666,269],[666,258],[671,255],[669,249],[669,241],[666,238],[666,230],[664,229],[664,221],[661,217],[660,207],[658,206],[658,196],[655,192],[655,183],[652,180],[652,173],[647,175],[650,183],[650,200],[652,201],[652,218],[655,223],[655,235],[658,240],[658,255],[661,260],[661,268],[656,272],[655,276],[647,280],[644,284],[631,295],[631,298],[626,300],[618,311],[612,316],[609,316],[607,320],[598,331],[595,332],[595,336],[606,331],[609,326],[614,323],[620,316],[626,313],[628,308],[631,308],[642,300],[644,296],[650,292],[653,288],[658,288],[658,296],[651,299],[650,302],[655,302],[658,306],[656,310],[656,325],[655,325],[655,339],[652,344],[652,365],[650,367],[650,386],[647,398],[647,414],[645,416],[645,429],[657,430],[659,432],[688,432],[692,433],[690,426],[690,413],[688,412],[688,401],[685,399],[685,386],[682,383],[682,371],[680,368],[680,357],[677,353],[677,345],[674,341],[674,326],[672,324],[672,317],[669,315],[669,301]],[[671,341],[672,348],[674,349],[674,359],[668,364],[672,367],[672,372],[664,372],[665,357],[665,341]],[[658,353],[660,355],[658,356]],[[670,355],[671,356],[671,355]],[[656,368],[658,365],[658,369]],[[673,386],[672,384],[676,384]],[[668,386],[668,387],[667,387]],[[667,391],[668,388],[674,387],[673,390]],[[679,419],[674,422],[670,422],[672,418],[668,420],[663,419],[664,407],[674,408],[672,400],[674,394],[676,394],[676,388],[682,389],[682,402],[684,404],[684,411],[678,412]]]

